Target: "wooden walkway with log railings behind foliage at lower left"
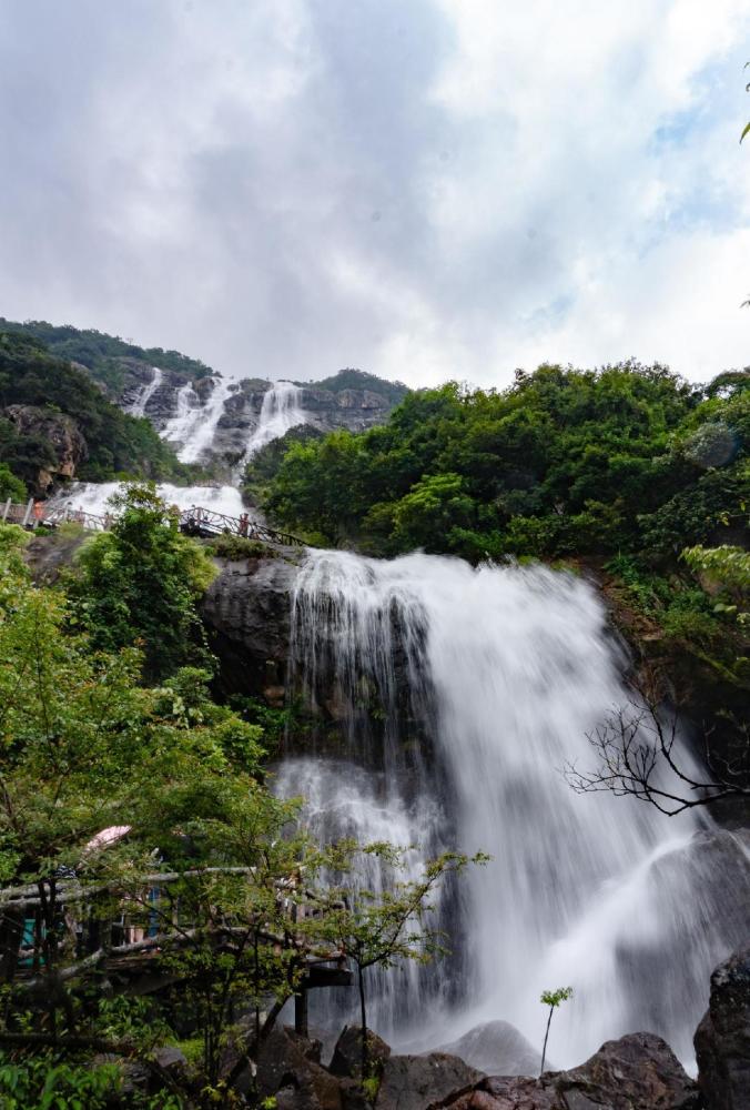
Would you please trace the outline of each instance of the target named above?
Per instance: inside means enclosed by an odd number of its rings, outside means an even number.
[[[105,848],[124,839],[129,831],[130,826],[114,826],[103,830],[91,845],[99,841]],[[44,938],[45,918],[50,915],[60,951],[67,949],[69,957],[55,969],[55,982],[83,982],[94,973],[105,972],[116,993],[162,991],[184,977],[184,969],[181,971],[173,959],[180,951],[200,951],[201,945],[207,945],[217,952],[241,955],[245,949],[250,951],[247,940],[254,936],[255,942],[295,952],[301,975],[294,989],[294,1025],[298,1033],[307,1037],[307,992],[351,987],[354,976],[341,946],[312,944],[297,932],[305,918],[320,912],[316,895],[303,886],[302,877],[274,881],[276,906],[285,921],[283,935],[270,931],[267,925],[261,925],[259,930],[250,921],[226,919],[217,906],[212,907],[216,919],[197,928],[182,920],[180,896],[168,895],[172,884],[190,887],[193,881],[200,884],[212,876],[230,875],[252,881],[254,874],[253,867],[232,866],[163,869],[138,878],[129,875],[128,884],[123,885],[91,881],[84,874],[65,870],[53,879],[0,888],[0,924],[7,934],[4,956],[9,955],[9,948],[14,949],[14,960],[4,969],[4,980],[24,992],[49,988]],[[110,914],[103,909],[108,901],[113,907]],[[132,917],[129,910],[134,911]]]

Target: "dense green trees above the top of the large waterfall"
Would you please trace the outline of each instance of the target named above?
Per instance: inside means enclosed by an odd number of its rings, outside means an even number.
[[[742,528],[748,375],[707,395],[662,366],[540,366],[503,392],[449,383],[389,422],[293,445],[265,507],[375,554],[559,557]]]

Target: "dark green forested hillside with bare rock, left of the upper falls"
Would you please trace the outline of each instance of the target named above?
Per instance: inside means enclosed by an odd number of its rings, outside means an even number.
[[[0,331],[0,496],[43,495],[61,478],[186,473],[146,420],[31,335]]]

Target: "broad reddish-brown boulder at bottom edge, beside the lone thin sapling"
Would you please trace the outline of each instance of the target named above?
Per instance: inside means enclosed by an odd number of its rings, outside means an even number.
[[[700,1110],[698,1087],[653,1033],[607,1041],[570,1071],[539,1080],[491,1077],[457,1089],[434,1107],[452,1110]]]

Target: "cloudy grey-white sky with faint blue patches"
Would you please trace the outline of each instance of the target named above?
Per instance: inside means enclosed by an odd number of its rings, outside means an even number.
[[[750,363],[750,0],[0,0],[0,315],[227,375]]]

